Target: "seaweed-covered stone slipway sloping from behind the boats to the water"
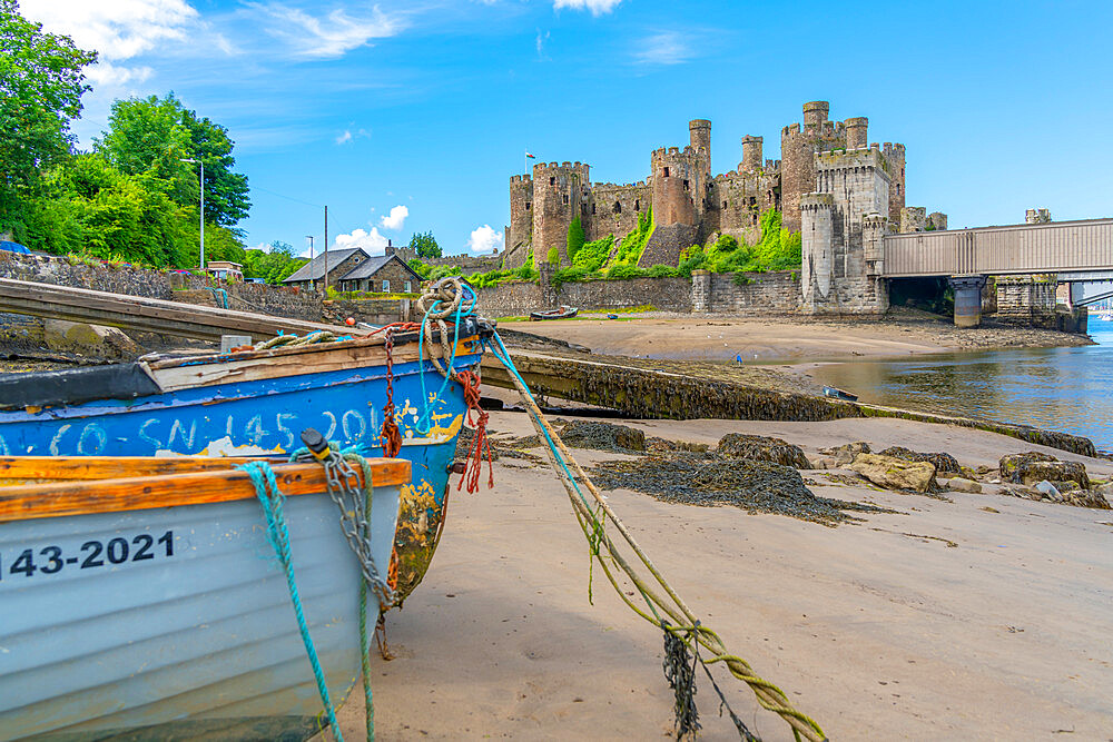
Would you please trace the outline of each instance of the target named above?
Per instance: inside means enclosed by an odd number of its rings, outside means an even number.
[[[637,360],[614,356],[567,358],[542,353],[511,352],[519,373],[535,394],[581,402],[619,410],[628,417],[670,419],[755,419],[818,422],[844,417],[898,417],[922,423],[958,425],[999,433],[1027,443],[1050,446],[1082,456],[1096,451],[1089,438],[1068,433],[1044,431],[1028,425],[938,415],[897,409],[802,394],[784,387],[772,388],[730,378],[732,374],[705,375],[683,373],[676,362],[650,362],[653,368],[640,367]],[[760,374],[760,375],[757,375]],[[766,375],[755,369],[754,380],[765,383]],[[510,373],[493,356],[483,358],[483,383],[512,388]]]

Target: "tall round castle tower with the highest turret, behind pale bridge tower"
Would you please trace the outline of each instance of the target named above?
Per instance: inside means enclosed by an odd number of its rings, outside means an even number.
[[[786,229],[800,229],[800,196],[816,190],[816,152],[846,147],[846,131],[827,120],[830,105],[816,100],[804,105],[799,123],[780,131],[780,202]]]

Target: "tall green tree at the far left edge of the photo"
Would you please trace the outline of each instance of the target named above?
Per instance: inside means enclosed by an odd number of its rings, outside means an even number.
[[[69,37],[43,33],[17,0],[0,0],[0,228],[17,226],[41,169],[69,156],[69,122],[90,89],[82,68],[96,60]]]

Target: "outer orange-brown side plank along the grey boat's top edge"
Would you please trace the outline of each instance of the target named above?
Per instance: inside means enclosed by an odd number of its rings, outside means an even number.
[[[411,481],[410,462],[403,458],[372,458],[370,463],[374,486],[401,486]],[[354,468],[363,486],[359,467]],[[326,489],[325,468],[319,464],[278,464],[274,471],[284,495],[312,495]],[[255,498],[255,485],[247,473],[227,468],[21,485],[0,487],[0,523]]]

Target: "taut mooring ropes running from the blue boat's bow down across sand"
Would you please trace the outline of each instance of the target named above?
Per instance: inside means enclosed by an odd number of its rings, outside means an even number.
[[[649,558],[627,530],[626,524],[608,504],[607,498],[572,457],[564,442],[545,419],[498,333],[494,334],[492,340],[484,340],[484,346],[510,372],[519,396],[529,413],[530,422],[546,444],[545,453],[549,455],[553,471],[568,492],[577,522],[588,540],[592,563],[599,563],[619,597],[646,621],[661,627],[684,644],[691,644],[692,649],[696,650],[697,659],[705,665],[705,669],[706,665],[717,662],[725,663],[735,677],[745,682],[754,691],[762,708],[778,714],[788,723],[797,740],[801,738],[811,742],[826,740],[826,734],[815,720],[796,710],[785,692],[760,677],[746,660],[728,652],[719,635],[696,617],[696,614]],[[615,541],[608,534],[605,530],[608,522],[618,530],[621,541]],[[632,552],[632,555],[627,555],[624,550]],[[636,562],[640,562],[641,570],[648,572],[649,577],[643,577],[639,573],[634,566]],[[630,600],[622,586],[619,585],[619,572],[627,576],[641,595],[646,602],[644,609]],[[656,583],[656,586],[652,583]],[[590,600],[590,577],[588,591]],[[660,591],[663,591],[663,594]],[[706,660],[700,657],[699,646],[706,649],[711,656]],[[739,733],[741,734],[741,729],[739,729]]]

